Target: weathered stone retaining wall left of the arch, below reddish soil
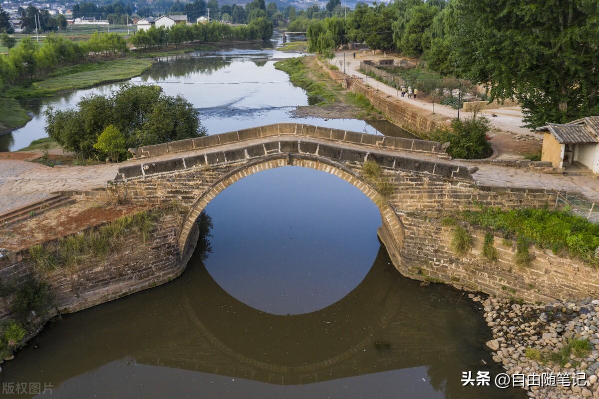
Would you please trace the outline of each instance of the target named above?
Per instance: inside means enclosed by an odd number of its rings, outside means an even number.
[[[107,257],[72,268],[40,272],[28,261],[26,251],[10,254],[0,260],[0,280],[19,287],[32,276],[50,284],[59,312],[86,309],[179,276],[190,256],[181,256],[177,247],[180,223],[180,217],[164,215],[156,221],[146,242],[132,234]],[[8,315],[10,301],[10,297],[0,299],[0,319]]]

